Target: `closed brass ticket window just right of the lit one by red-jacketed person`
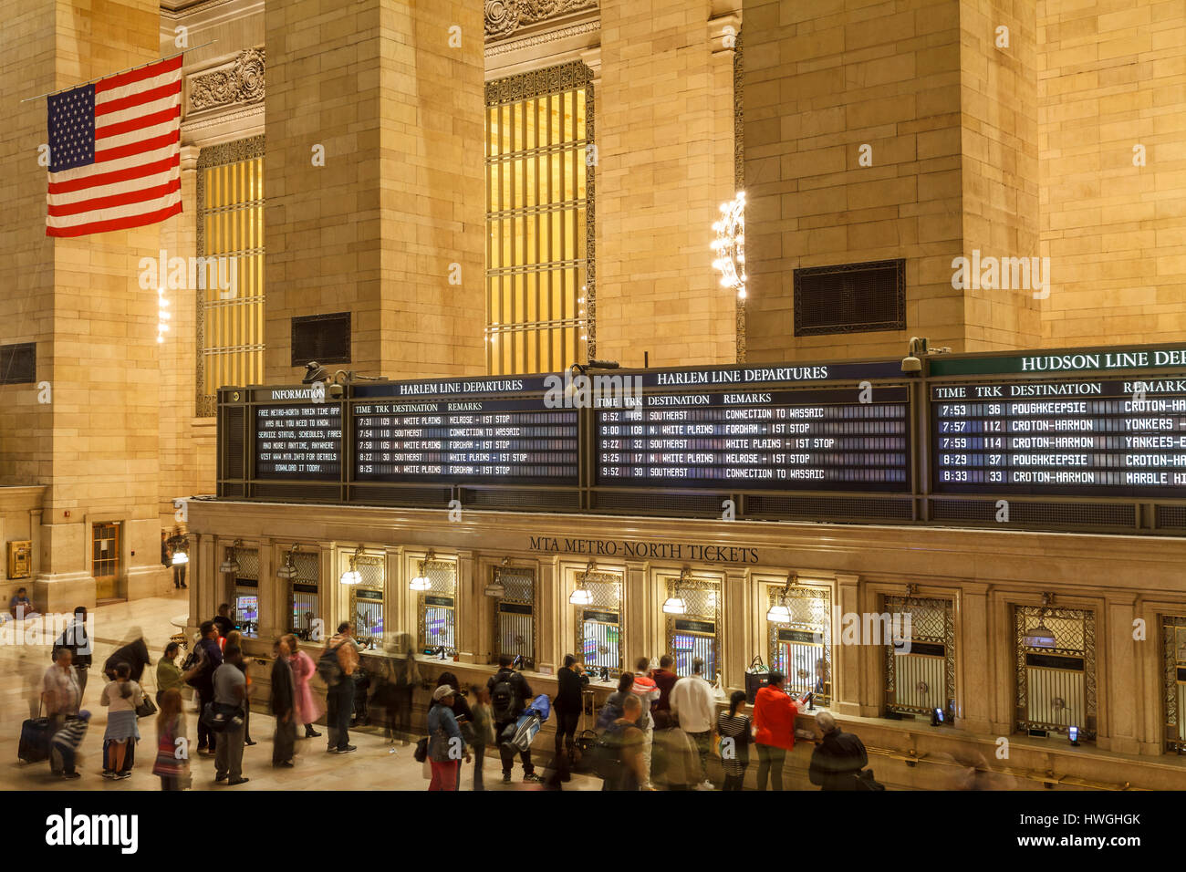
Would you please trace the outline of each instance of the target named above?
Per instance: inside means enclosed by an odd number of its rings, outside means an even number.
[[[861,632],[881,636],[876,641],[885,650],[886,711],[898,717],[929,718],[938,708],[945,719],[950,718],[955,712],[956,674],[951,602],[886,597],[885,612],[871,617],[879,619],[862,624]]]

